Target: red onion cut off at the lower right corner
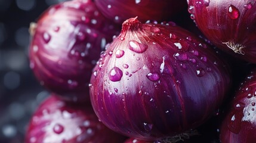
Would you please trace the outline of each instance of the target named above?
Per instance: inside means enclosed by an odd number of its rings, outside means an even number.
[[[252,70],[232,101],[221,125],[222,143],[254,143],[256,141],[256,69]]]

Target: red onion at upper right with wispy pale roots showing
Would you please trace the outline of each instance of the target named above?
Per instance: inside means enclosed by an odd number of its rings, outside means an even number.
[[[188,0],[191,18],[214,45],[256,63],[254,0]]]

